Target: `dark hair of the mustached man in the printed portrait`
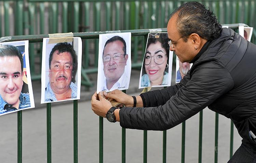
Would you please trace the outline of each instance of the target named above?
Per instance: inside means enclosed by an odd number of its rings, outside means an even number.
[[[50,56],[49,56],[49,69],[51,69],[51,61],[53,59],[53,53],[55,51],[58,51],[57,54],[64,53],[64,52],[69,52],[71,54],[71,57],[73,59],[73,69],[72,69],[73,73],[72,73],[72,75],[75,76],[76,71],[77,71],[77,59],[76,59],[76,53],[75,53],[75,50],[74,50],[73,46],[68,42],[57,43],[53,47],[53,49],[50,53]],[[72,79],[72,82],[75,82],[74,78]]]

